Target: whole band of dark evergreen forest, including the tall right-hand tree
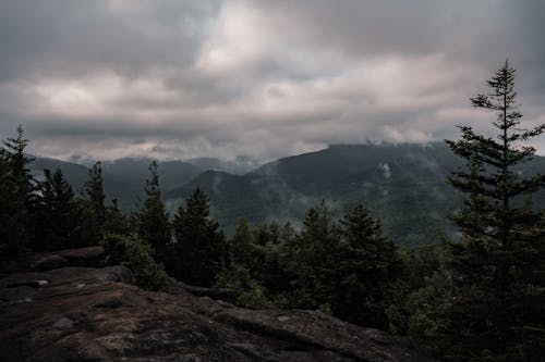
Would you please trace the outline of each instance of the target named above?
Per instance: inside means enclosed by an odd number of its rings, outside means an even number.
[[[135,211],[106,200],[102,165],[74,192],[60,168],[33,177],[22,126],[0,150],[0,255],[9,272],[29,252],[101,245],[108,264],[126,265],[138,284],[160,290],[167,277],[238,291],[253,309],[313,309],[409,336],[452,361],[538,361],[545,354],[545,211],[532,199],[545,175],[517,167],[545,125],[521,129],[514,70],[506,63],[471,99],[493,111],[498,134],[461,126],[447,140],[463,165],[446,182],[463,196],[450,214],[457,234],[403,247],[361,202],[334,217],[323,201],[291,223],[252,226],[226,237],[201,189],[174,213],[149,164]],[[451,235],[451,234],[449,234]]]

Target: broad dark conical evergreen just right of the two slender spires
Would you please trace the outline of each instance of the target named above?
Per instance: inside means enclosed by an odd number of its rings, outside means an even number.
[[[211,286],[225,267],[226,241],[209,214],[208,198],[197,188],[174,215],[174,242],[167,271],[185,283]]]

